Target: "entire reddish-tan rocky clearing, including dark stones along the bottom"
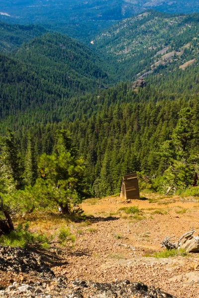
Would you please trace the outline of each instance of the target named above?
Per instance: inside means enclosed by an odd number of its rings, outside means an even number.
[[[35,216],[32,219],[33,231],[50,234],[60,226],[69,225],[76,234],[75,246],[70,249],[55,247],[48,252],[27,252],[33,254],[32,263],[28,261],[31,257],[26,252],[21,255],[20,251],[21,257],[16,252],[13,255],[8,253],[6,249],[4,254],[0,252],[0,283],[5,287],[0,295],[6,298],[172,297],[157,292],[149,294],[155,287],[173,297],[199,298],[197,253],[172,258],[153,256],[155,251],[161,251],[160,242],[166,236],[175,235],[175,240],[191,226],[199,230],[198,201],[153,194],[145,196],[147,200],[130,203],[119,198],[86,200],[82,208],[89,219],[82,223],[67,223],[60,215],[42,216],[42,220],[39,215]],[[129,206],[137,206],[139,214],[129,215],[118,211]],[[23,259],[28,269],[24,270],[23,263],[15,262],[17,259]],[[4,270],[5,267],[9,270]],[[76,279],[86,286],[76,285]],[[124,280],[130,284],[121,282]],[[97,286],[98,283],[102,288]],[[148,292],[142,283],[149,287]],[[21,286],[31,288],[21,292]],[[145,293],[136,293],[139,287],[139,291]],[[41,292],[35,293],[35,290]]]

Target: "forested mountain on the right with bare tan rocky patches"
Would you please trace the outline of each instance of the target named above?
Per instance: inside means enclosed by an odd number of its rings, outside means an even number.
[[[98,35],[93,46],[118,67],[118,80],[197,64],[199,14],[156,11],[124,19]],[[187,65],[184,65],[187,63]]]

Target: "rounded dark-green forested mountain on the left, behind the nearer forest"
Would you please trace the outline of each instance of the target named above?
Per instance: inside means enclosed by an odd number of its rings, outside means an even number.
[[[68,36],[47,33],[23,44],[12,57],[0,55],[0,117],[47,109],[107,82],[102,62]],[[101,85],[100,85],[101,86]]]

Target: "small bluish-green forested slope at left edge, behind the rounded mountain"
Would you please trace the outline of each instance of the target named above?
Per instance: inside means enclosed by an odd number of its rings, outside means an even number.
[[[18,25],[0,22],[0,52],[10,52],[23,42],[42,35],[46,31],[41,25]]]

